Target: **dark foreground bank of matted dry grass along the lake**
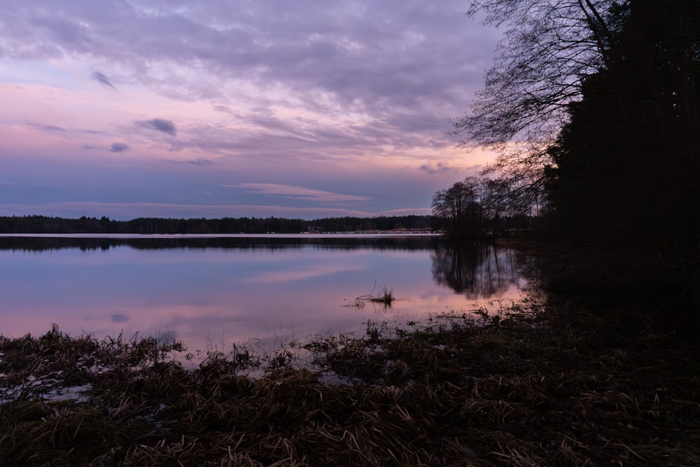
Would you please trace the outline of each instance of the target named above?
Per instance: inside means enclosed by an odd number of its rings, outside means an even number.
[[[0,465],[698,465],[700,361],[672,337],[533,302],[295,343],[309,368],[1,337]]]

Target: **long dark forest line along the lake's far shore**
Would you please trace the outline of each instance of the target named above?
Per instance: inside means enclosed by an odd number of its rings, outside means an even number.
[[[261,234],[299,232],[356,232],[361,230],[428,229],[433,216],[329,217],[313,221],[279,217],[255,218],[135,218],[115,221],[106,216],[60,218],[2,216],[0,233],[120,233],[120,234]]]

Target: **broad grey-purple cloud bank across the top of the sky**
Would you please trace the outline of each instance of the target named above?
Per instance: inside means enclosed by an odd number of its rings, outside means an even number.
[[[465,102],[455,97],[465,100],[480,87],[498,37],[465,19],[468,5],[462,0],[439,7],[398,0],[260,2],[245,10],[193,4],[187,13],[156,11],[139,2],[109,2],[104,8],[77,0],[30,4],[34,8],[9,11],[4,22],[6,47],[15,55],[52,55],[53,50],[37,49],[56,44],[64,55],[105,57],[132,69],[144,83],[193,97],[204,92],[194,78],[181,89],[176,84],[181,78],[155,79],[148,63],[201,67],[224,80],[283,83],[302,95],[330,92],[344,105],[368,109],[390,104],[420,111],[440,102],[459,115]]]

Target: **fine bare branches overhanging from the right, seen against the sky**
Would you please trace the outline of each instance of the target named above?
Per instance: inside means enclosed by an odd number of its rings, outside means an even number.
[[[510,189],[507,198],[529,206],[545,202],[547,149],[580,99],[584,78],[619,60],[615,43],[625,1],[473,0],[468,14],[505,29],[484,88],[470,113],[453,120],[463,146],[498,153],[484,174]]]

